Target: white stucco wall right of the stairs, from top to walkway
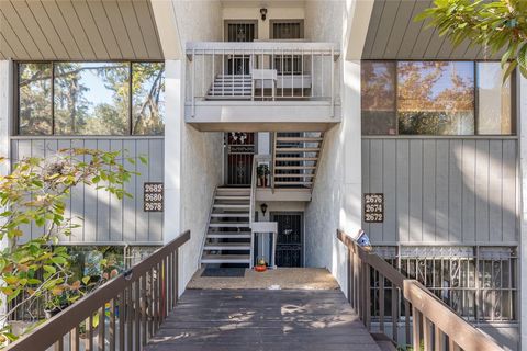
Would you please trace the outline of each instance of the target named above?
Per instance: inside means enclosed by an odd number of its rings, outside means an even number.
[[[359,11],[348,2],[307,1],[306,37],[337,42],[345,53],[344,35],[348,32],[344,27],[359,22],[367,27],[371,14],[371,5]],[[357,31],[351,37],[360,52],[366,32]],[[305,252],[306,265],[327,268],[346,293],[347,252],[336,239],[336,230],[356,235],[361,226],[360,57],[352,60],[343,54],[338,64],[343,122],[325,135],[313,200],[305,213]]]

